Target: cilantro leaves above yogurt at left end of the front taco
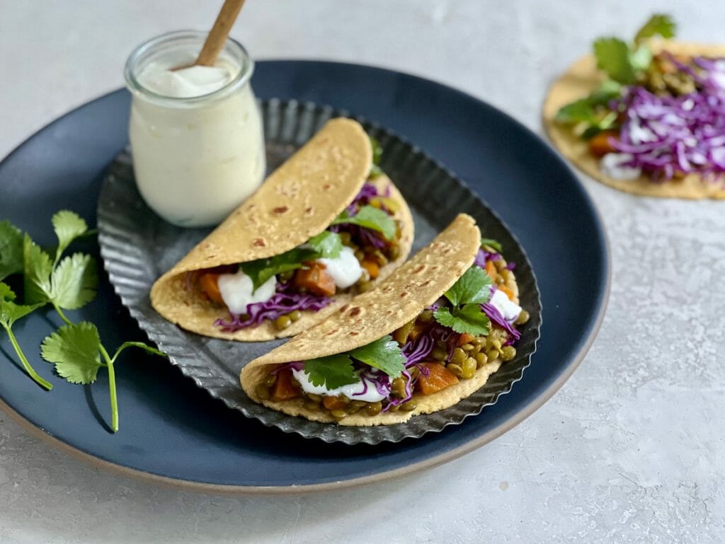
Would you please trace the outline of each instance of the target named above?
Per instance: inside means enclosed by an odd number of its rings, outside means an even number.
[[[332,390],[360,380],[354,361],[379,369],[390,377],[398,377],[405,370],[405,356],[400,346],[391,335],[386,335],[347,353],[309,359],[305,361],[304,371],[312,385]]]

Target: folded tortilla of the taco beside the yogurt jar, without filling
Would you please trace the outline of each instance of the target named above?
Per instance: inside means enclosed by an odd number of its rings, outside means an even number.
[[[296,335],[324,319],[352,298],[342,293],[320,311],[302,311],[285,330],[265,321],[257,327],[224,332],[217,319],[229,319],[224,306],[215,306],[186,285],[195,270],[238,264],[282,254],[321,233],[357,196],[370,172],[372,151],[359,123],[328,121],[305,146],[275,170],[260,189],[241,204],[152,286],[151,302],[165,319],[200,335],[254,342]],[[372,180],[389,191],[398,204],[395,219],[402,223],[400,256],[380,269],[378,282],[399,266],[413,245],[413,216],[405,199],[385,175]]]

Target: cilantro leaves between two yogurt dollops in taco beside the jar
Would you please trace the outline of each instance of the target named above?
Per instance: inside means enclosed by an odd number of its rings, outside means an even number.
[[[329,230],[323,230],[302,246],[266,259],[244,262],[240,266],[242,272],[252,278],[252,287],[257,290],[260,285],[272,276],[302,268],[305,261],[321,258],[334,259],[340,255],[341,251],[342,240],[340,235],[331,233]]]

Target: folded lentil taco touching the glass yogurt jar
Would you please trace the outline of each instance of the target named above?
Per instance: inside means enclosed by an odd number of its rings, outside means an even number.
[[[374,157],[373,157],[374,155]],[[296,335],[405,261],[413,218],[357,122],[334,119],[152,286],[186,330]]]

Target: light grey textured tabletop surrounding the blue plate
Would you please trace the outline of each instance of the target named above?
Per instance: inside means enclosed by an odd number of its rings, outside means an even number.
[[[122,85],[123,62],[139,42],[210,25],[220,2],[201,4],[1,0],[0,156],[59,114]],[[489,101],[539,133],[553,75],[595,36],[631,35],[664,6],[247,4],[233,35],[258,59],[336,59],[412,72]],[[722,2],[668,4],[683,39],[725,41]],[[494,443],[354,491],[229,498],[99,472],[0,414],[0,543],[723,542],[725,203],[652,200],[583,183],[612,247],[607,317],[565,387]]]

